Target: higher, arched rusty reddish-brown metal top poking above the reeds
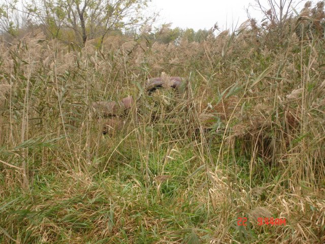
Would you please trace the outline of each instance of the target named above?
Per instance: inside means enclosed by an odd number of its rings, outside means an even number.
[[[172,77],[154,77],[150,78],[146,84],[146,90],[150,95],[157,88],[179,88],[185,82],[185,78],[179,76]]]

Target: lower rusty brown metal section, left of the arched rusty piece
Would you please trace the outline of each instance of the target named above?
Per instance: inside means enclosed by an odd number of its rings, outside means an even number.
[[[132,96],[123,98],[121,102],[97,101],[92,103],[92,109],[99,117],[113,117],[123,115],[125,110],[132,107],[134,100]]]

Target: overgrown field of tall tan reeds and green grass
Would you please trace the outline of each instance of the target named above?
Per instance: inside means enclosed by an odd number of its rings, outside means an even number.
[[[251,20],[201,43],[79,48],[39,29],[3,40],[0,242],[324,243],[325,40],[313,21]],[[163,72],[186,87],[148,96]],[[123,128],[103,135],[91,103],[129,95]]]

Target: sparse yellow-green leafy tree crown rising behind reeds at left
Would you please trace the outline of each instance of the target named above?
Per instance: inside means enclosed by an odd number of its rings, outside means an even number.
[[[53,37],[62,29],[71,29],[74,41],[101,38],[113,30],[141,25],[149,17],[141,14],[150,0],[31,0],[28,12],[36,14]]]

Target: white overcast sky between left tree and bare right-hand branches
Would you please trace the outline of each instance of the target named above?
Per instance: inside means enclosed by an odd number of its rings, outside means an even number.
[[[261,0],[266,5],[268,0]],[[279,2],[279,0],[277,0]],[[240,23],[247,19],[246,10],[254,0],[152,0],[151,8],[160,16],[155,26],[172,22],[172,27],[210,29],[215,22],[222,30],[231,27],[237,21]],[[261,13],[250,8],[252,17],[260,19]]]

